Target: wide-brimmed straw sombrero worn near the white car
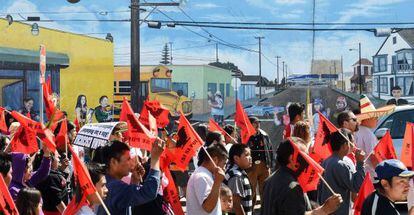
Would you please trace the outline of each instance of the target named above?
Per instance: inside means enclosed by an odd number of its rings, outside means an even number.
[[[369,100],[369,98],[365,95],[361,96],[359,104],[361,108],[361,113],[356,116],[359,121],[371,118],[379,118],[381,116],[385,116],[387,114],[392,113],[395,109],[395,105],[387,105],[376,109],[372,102]]]

